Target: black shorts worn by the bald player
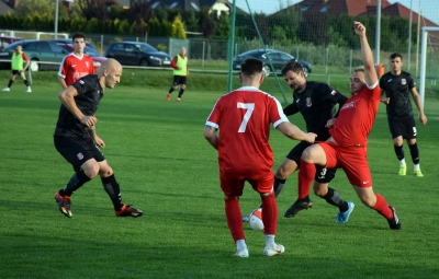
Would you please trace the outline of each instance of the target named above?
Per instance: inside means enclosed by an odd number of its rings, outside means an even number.
[[[55,136],[54,143],[59,154],[74,166],[75,172],[81,170],[81,165],[92,158],[98,162],[105,160],[101,150],[89,137],[77,139]]]

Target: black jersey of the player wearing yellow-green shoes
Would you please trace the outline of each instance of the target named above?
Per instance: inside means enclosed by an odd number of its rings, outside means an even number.
[[[392,72],[385,73],[380,79],[380,89],[385,91],[391,101],[386,105],[387,117],[405,117],[413,115],[410,91],[415,88],[415,81],[408,72],[402,71],[399,75]]]

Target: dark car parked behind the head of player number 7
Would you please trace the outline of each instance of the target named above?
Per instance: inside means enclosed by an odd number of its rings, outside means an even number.
[[[246,53],[243,53],[238,56],[235,56],[233,59],[233,69],[234,70],[240,70],[240,65],[246,58],[257,58],[262,60],[263,62],[263,73],[266,77],[270,75],[271,72],[275,72],[277,74],[281,73],[282,67],[291,61],[296,61],[302,65],[303,67],[303,72],[305,75],[307,75],[311,70],[312,66],[311,63],[302,60],[296,60],[294,56],[289,55],[286,53],[280,51],[280,50],[274,50],[274,49],[252,49],[248,50]],[[270,61],[273,67],[270,66]]]

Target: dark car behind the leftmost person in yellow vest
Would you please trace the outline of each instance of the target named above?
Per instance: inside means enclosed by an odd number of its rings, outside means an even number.
[[[32,71],[58,70],[59,63],[63,61],[63,58],[68,54],[66,49],[61,48],[54,42],[30,39],[15,42],[12,45],[9,45],[2,51],[0,51],[0,59],[10,60],[12,57],[12,53],[15,51],[16,45],[19,44],[23,46],[23,51],[31,60],[30,68]],[[0,63],[0,68],[3,69],[11,69],[11,62],[2,62]]]

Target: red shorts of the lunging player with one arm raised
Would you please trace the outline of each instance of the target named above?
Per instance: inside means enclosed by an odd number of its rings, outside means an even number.
[[[359,187],[371,187],[372,175],[368,164],[368,151],[361,147],[340,147],[319,142],[326,153],[326,168],[341,167],[349,183]]]

